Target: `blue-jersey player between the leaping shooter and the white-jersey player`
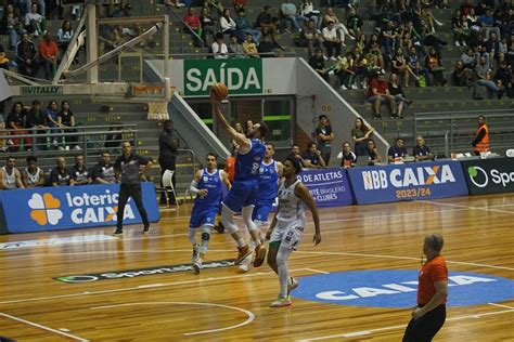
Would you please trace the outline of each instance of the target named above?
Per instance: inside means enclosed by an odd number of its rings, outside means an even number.
[[[274,145],[272,143],[266,143],[265,159],[260,163],[258,172],[259,192],[255,199],[254,213],[252,220],[257,226],[266,224],[268,222],[268,215],[273,210],[273,206],[277,202],[277,193],[279,190],[279,179],[282,176],[282,162],[275,161]],[[265,236],[261,235],[261,242],[265,242]],[[254,241],[250,241],[250,247]],[[257,263],[259,261],[260,263]],[[254,266],[259,267],[264,260],[254,261]],[[242,272],[247,272],[250,268],[252,254],[246,256],[240,265]]]

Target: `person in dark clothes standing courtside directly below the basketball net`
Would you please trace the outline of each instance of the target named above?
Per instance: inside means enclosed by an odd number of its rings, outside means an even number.
[[[174,176],[171,177],[171,182],[176,184],[175,180],[175,170],[176,170],[176,162],[177,162],[177,155],[180,142],[177,133],[174,130],[174,121],[166,120],[163,124],[163,131],[158,137],[158,163],[160,166],[160,179],[163,179],[163,174],[166,170],[174,171]],[[163,186],[163,184],[160,184]],[[160,196],[160,203],[166,203],[166,194],[163,192]],[[176,202],[176,199],[169,200],[168,202]]]

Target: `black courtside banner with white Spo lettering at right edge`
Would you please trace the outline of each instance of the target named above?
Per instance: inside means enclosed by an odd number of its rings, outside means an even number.
[[[471,195],[514,193],[514,158],[462,160]]]

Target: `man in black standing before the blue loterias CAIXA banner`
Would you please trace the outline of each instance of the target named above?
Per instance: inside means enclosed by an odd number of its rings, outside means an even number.
[[[146,210],[143,206],[143,195],[141,190],[141,181],[145,181],[145,174],[152,168],[152,162],[140,155],[132,153],[132,146],[130,142],[124,142],[121,145],[123,154],[114,163],[114,169],[118,179],[121,180],[118,195],[118,211],[116,231],[113,236],[120,236],[124,234],[124,214],[125,206],[129,197],[132,197],[138,207],[139,214],[143,220],[143,234],[150,233],[150,222]],[[140,166],[144,166],[143,172],[140,170]]]

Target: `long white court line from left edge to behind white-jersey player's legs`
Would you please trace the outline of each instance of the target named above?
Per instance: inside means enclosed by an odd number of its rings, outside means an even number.
[[[306,271],[306,268],[296,268],[291,269],[290,272],[299,272]],[[90,295],[90,294],[104,294],[104,293],[115,293],[115,292],[125,292],[125,291],[132,291],[132,290],[144,290],[146,288],[152,287],[170,287],[170,286],[180,286],[180,285],[189,285],[189,284],[196,284],[203,281],[216,281],[216,280],[227,280],[227,279],[237,279],[237,278],[247,278],[247,277],[256,277],[262,275],[274,274],[274,272],[258,272],[253,274],[243,274],[243,275],[234,275],[234,276],[226,276],[226,277],[210,277],[206,279],[194,279],[194,280],[184,280],[184,281],[176,281],[176,282],[162,282],[154,286],[145,286],[141,288],[141,286],[130,287],[130,288],[120,288],[120,289],[112,289],[112,290],[102,290],[102,291],[85,291],[79,293],[68,293],[68,294],[60,294],[60,295],[48,295],[48,297],[35,297],[35,298],[26,298],[20,300],[10,300],[10,301],[1,301],[0,304],[12,304],[12,303],[24,303],[24,302],[35,302],[35,301],[44,301],[51,299],[61,299],[61,298],[72,298],[72,297],[81,297],[81,295]]]

